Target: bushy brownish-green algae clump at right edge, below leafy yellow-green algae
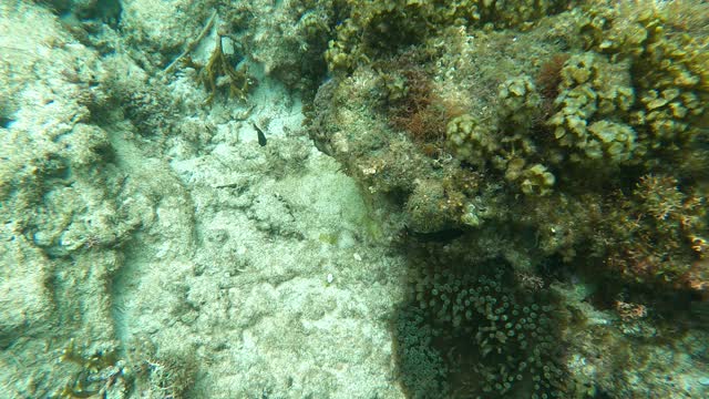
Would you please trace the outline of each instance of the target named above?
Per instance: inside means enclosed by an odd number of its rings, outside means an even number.
[[[682,192],[670,175],[645,175],[617,203],[605,233],[617,241],[609,248],[610,270],[633,284],[692,289],[696,266],[706,268],[698,262],[707,254],[706,198]]]

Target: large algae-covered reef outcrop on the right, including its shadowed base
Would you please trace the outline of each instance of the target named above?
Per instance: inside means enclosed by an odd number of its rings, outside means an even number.
[[[615,313],[623,323],[641,315],[644,331],[667,339],[674,332],[665,317],[695,328],[691,313],[670,309],[706,300],[709,285],[702,280],[709,234],[706,27],[682,27],[672,17],[681,6],[651,1],[541,2],[535,11],[524,1],[505,8],[474,1],[360,6],[329,44],[335,78],[316,98],[310,135],[372,202],[398,209],[388,222],[405,233],[408,250],[427,248],[411,262],[418,299],[402,308],[401,323],[436,338],[423,348],[424,336],[402,337],[418,359],[400,349],[404,369],[423,386],[451,392],[541,393],[533,387],[540,380],[515,387],[516,376],[487,378],[486,367],[500,370],[492,358],[475,366],[479,385],[452,377],[466,364],[443,354],[462,344],[448,337],[443,345],[442,337],[466,323],[473,328],[455,300],[474,303],[490,278],[517,298],[524,282],[541,282],[532,285],[547,293],[548,282],[573,276],[604,286],[587,297],[597,308],[569,305],[576,299],[565,290],[531,298],[555,309],[578,307],[577,315]],[[432,255],[436,250],[449,260]],[[494,259],[507,266],[493,266]],[[444,296],[442,286],[449,287]],[[480,309],[471,315],[486,317]],[[547,321],[573,348],[577,315]],[[448,326],[443,336],[435,335],[440,324]],[[598,329],[630,345],[633,328],[617,332],[617,321],[609,324]],[[495,339],[500,350],[511,344]],[[485,358],[482,344],[466,344],[479,354],[472,358]],[[549,354],[555,347],[540,345]],[[524,352],[518,346],[510,351]],[[556,355],[554,365],[572,365],[568,352]],[[422,371],[441,359],[446,376]],[[557,377],[580,372],[566,366],[554,366]],[[414,397],[427,397],[414,393],[424,388],[404,381]],[[562,397],[627,391],[605,376],[575,381],[547,380],[546,388]]]

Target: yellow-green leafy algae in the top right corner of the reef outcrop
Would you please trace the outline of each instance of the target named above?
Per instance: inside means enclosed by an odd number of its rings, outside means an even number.
[[[676,31],[667,23],[671,8],[624,9],[600,4],[588,10],[582,34],[588,47],[630,63],[639,103],[628,123],[649,151],[646,167],[668,152],[692,154],[705,141],[709,100],[709,52],[706,37]],[[690,155],[693,157],[693,155]],[[698,158],[699,156],[697,156]],[[691,170],[702,165],[688,165]]]

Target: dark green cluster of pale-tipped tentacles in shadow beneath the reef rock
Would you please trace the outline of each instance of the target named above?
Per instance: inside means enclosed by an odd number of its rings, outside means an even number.
[[[553,298],[518,286],[504,263],[459,266],[429,264],[411,286],[422,332],[433,328],[439,345],[455,342],[449,358],[467,365],[448,366],[448,378],[469,381],[462,392],[473,397],[562,397]]]

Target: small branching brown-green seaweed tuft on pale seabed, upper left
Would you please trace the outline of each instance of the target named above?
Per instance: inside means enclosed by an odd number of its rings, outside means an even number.
[[[223,35],[217,32],[216,45],[209,57],[209,61],[199,72],[199,76],[209,95],[206,104],[212,104],[218,88],[228,84],[229,96],[239,101],[246,101],[254,85],[254,79],[249,76],[246,66],[235,69],[222,47]],[[242,64],[245,65],[245,64]]]

